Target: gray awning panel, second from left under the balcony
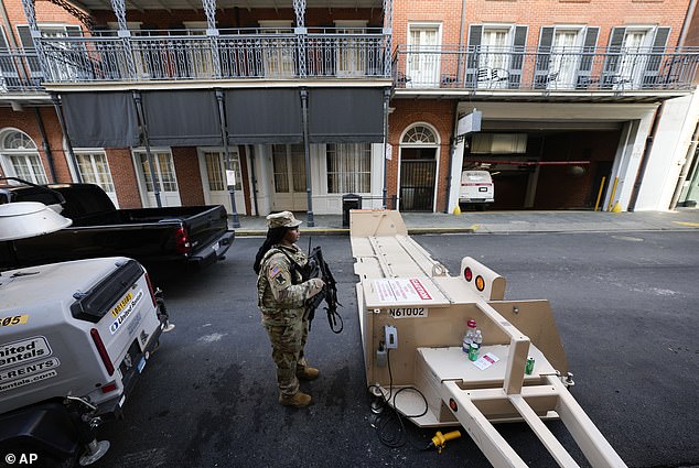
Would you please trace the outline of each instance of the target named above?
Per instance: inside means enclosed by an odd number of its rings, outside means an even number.
[[[209,90],[146,91],[143,113],[153,146],[222,145],[218,104]]]

